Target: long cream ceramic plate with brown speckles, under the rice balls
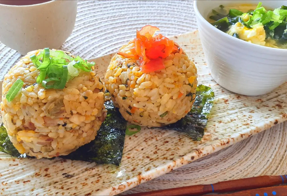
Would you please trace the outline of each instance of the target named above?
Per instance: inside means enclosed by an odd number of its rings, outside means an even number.
[[[116,195],[287,119],[287,84],[259,97],[231,93],[211,78],[198,32],[175,36],[216,99],[204,138],[142,129],[126,136],[120,167],[82,161],[16,159],[0,152],[0,195]],[[92,59],[101,77],[113,54]]]

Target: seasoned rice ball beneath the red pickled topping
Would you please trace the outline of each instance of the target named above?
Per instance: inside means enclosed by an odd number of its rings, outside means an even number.
[[[120,52],[129,53],[134,41]],[[107,69],[104,83],[122,116],[140,126],[164,126],[183,118],[196,97],[197,69],[183,52],[163,59],[164,69],[143,73],[139,60],[116,54]]]

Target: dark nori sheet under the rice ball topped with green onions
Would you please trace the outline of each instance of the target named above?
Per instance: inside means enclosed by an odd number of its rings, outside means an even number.
[[[107,117],[97,131],[96,138],[90,143],[81,146],[76,151],[60,158],[95,162],[97,164],[114,164],[119,166],[123,154],[123,146],[126,134],[126,121],[115,109],[112,101],[105,103]],[[25,158],[26,154],[20,154],[10,141],[3,123],[0,127],[0,151],[13,157]]]

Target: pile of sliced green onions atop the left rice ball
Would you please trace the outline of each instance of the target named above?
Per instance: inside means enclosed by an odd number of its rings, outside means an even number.
[[[36,79],[46,89],[63,89],[66,83],[81,71],[90,72],[94,62],[89,63],[80,56],[73,58],[60,50],[44,48],[38,56],[30,56],[33,64],[40,70]],[[41,60],[42,58],[42,60]]]

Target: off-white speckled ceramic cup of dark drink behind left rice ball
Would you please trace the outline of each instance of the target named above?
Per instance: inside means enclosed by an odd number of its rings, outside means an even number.
[[[22,55],[46,47],[59,49],[71,35],[76,15],[77,1],[0,4],[0,41]]]

